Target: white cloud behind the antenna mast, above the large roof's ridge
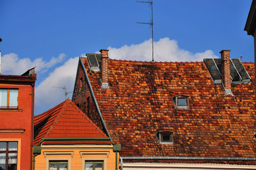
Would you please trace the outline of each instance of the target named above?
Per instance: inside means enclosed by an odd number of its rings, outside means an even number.
[[[113,59],[127,59],[137,61],[152,60],[152,39],[140,44],[124,45],[120,48],[108,47],[109,57]],[[212,50],[193,54],[180,49],[176,40],[161,38],[154,42],[155,61],[203,61],[204,58],[218,58]]]

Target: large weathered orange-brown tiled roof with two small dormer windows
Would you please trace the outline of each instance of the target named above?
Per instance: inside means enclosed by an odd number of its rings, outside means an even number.
[[[143,62],[109,59],[109,89],[88,68],[93,93],[123,157],[256,157],[254,63],[252,77],[232,84],[232,95],[213,83],[204,62]],[[189,109],[175,109],[175,95],[189,96]],[[174,144],[159,144],[170,130]]]

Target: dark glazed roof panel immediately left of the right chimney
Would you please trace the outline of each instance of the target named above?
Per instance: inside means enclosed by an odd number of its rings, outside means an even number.
[[[221,83],[221,74],[220,74],[220,70],[218,69],[218,66],[216,65],[214,60],[212,58],[209,58],[209,59],[204,59],[204,62],[212,76],[214,83],[220,84]]]

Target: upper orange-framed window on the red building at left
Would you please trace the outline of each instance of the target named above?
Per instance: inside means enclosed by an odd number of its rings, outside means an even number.
[[[0,109],[18,109],[18,89],[0,89]]]

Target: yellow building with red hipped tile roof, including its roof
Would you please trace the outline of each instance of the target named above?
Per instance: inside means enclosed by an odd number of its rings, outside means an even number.
[[[118,170],[120,144],[69,99],[35,116],[34,128],[33,170]]]

